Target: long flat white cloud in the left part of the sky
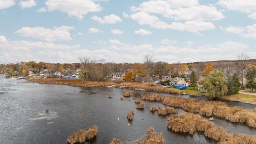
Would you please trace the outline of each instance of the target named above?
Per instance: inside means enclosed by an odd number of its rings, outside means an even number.
[[[48,42],[69,41],[72,39],[69,30],[72,29],[75,28],[69,26],[53,27],[52,29],[44,27],[22,27],[15,31],[15,34],[25,37],[34,37]]]

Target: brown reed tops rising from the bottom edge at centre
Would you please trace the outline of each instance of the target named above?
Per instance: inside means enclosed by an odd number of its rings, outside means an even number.
[[[128,142],[129,143],[129,142]],[[110,144],[128,144],[118,139],[113,139]],[[164,138],[162,133],[156,133],[153,127],[149,127],[145,139],[138,144],[164,144]]]

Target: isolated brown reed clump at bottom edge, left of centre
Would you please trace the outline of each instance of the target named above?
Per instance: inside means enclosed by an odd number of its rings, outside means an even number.
[[[89,130],[79,130],[77,132],[72,133],[67,141],[68,143],[74,144],[74,143],[83,143],[86,140],[90,140],[94,138],[98,134],[98,127],[93,125],[89,128]]]

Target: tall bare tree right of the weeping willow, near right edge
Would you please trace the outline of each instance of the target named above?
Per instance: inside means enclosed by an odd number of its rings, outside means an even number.
[[[238,55],[238,62],[237,62],[237,68],[239,70],[241,81],[242,81],[242,88],[244,88],[244,70],[246,69],[246,60],[249,59],[249,57],[242,53],[241,55]]]

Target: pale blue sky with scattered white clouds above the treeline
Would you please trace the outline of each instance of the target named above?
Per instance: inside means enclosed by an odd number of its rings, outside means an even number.
[[[0,0],[0,63],[256,59],[254,0]]]

